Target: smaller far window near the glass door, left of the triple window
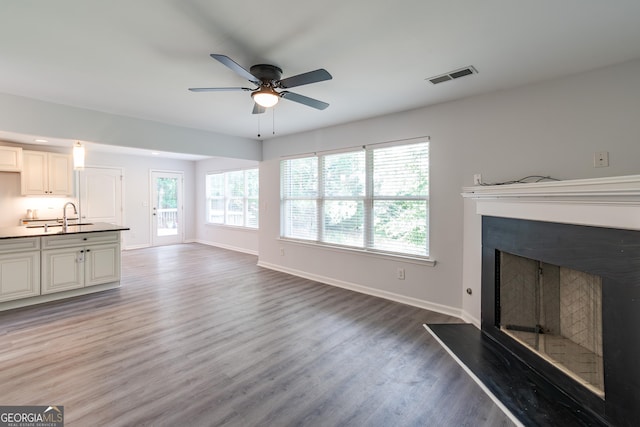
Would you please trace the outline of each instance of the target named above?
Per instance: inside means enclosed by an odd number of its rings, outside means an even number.
[[[258,169],[207,174],[207,223],[258,228],[258,189]]]

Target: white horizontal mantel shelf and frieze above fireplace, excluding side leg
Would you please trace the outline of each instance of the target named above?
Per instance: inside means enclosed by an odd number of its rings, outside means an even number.
[[[479,215],[640,230],[640,175],[465,187]]]

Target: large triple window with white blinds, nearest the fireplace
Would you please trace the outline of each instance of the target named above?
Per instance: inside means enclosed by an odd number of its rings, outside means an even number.
[[[280,167],[282,237],[429,255],[428,142],[287,159]]]

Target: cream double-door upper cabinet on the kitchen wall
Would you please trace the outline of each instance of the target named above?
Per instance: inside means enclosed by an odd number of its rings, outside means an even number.
[[[70,196],[73,194],[73,160],[68,154],[22,152],[23,196]]]

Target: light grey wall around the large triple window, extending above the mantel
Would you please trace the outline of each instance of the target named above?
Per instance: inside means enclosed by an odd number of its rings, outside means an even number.
[[[463,289],[463,256],[478,257],[479,242],[468,242],[463,250],[463,226],[477,219],[463,214],[462,187],[472,184],[475,173],[482,173],[485,182],[527,175],[573,179],[640,173],[639,112],[637,60],[268,140],[260,170],[259,262],[443,312],[479,317],[479,287],[473,295]],[[430,246],[437,261],[434,267],[278,240],[281,156],[424,135],[431,137]],[[609,152],[608,168],[593,167],[596,151]],[[406,280],[395,278],[397,267],[405,268]]]

